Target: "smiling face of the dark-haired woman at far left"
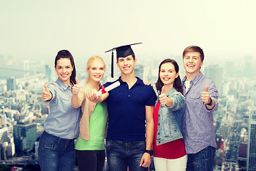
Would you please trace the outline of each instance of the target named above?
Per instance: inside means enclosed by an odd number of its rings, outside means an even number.
[[[69,58],[60,58],[56,62],[55,71],[59,79],[70,86],[70,76],[72,75],[73,66]]]

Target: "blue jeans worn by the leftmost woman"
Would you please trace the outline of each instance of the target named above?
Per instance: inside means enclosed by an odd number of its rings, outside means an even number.
[[[74,139],[58,138],[44,131],[39,140],[38,154],[41,171],[72,171]]]

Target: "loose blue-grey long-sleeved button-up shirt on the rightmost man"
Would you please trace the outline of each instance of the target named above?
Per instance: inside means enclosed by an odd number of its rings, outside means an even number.
[[[198,73],[190,81],[190,87],[186,90],[185,76],[182,88],[185,97],[185,112],[182,121],[182,133],[187,154],[200,152],[207,146],[216,147],[215,126],[213,125],[213,112],[218,108],[218,91],[210,78]],[[202,102],[202,92],[208,86],[210,98],[215,101],[215,107],[208,110]]]

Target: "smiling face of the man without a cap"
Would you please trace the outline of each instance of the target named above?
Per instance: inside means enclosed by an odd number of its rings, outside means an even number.
[[[188,74],[193,78],[200,73],[202,63],[203,61],[201,61],[200,53],[197,51],[187,52],[183,56],[183,66],[186,71],[186,75]]]

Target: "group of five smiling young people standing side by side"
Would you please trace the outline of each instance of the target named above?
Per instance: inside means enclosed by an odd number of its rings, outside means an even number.
[[[89,58],[86,84],[79,86],[72,54],[57,53],[58,79],[44,85],[41,93],[50,106],[39,140],[41,170],[72,171],[76,154],[79,171],[102,171],[105,150],[109,171],[146,171],[152,155],[157,171],[213,170],[212,113],[218,108],[218,93],[200,71],[202,48],[184,49],[182,81],[176,61],[167,58],[159,64],[158,95],[150,83],[135,77],[137,58],[131,45],[114,50],[120,86],[99,96],[100,89],[117,82],[100,83],[106,68],[102,58]]]

